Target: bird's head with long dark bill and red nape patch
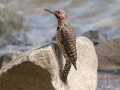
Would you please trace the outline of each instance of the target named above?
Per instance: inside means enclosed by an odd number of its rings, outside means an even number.
[[[54,16],[58,19],[58,20],[64,20],[64,19],[68,19],[67,14],[65,13],[65,11],[63,10],[48,10],[45,9],[48,12],[51,12],[52,14],[54,14]]]

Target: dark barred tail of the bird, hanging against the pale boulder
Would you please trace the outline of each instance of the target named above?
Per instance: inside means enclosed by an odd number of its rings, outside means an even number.
[[[67,60],[65,63],[63,72],[62,72],[62,76],[61,76],[61,79],[65,84],[67,83],[67,76],[70,71],[70,68],[71,68],[71,62],[69,60]]]

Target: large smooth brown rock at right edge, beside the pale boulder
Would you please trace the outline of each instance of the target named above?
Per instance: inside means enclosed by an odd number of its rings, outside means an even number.
[[[120,69],[120,39],[114,39],[95,46],[99,70]]]

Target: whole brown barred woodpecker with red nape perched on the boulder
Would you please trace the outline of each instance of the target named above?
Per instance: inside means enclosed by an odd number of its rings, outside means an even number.
[[[45,10],[51,12],[58,21],[56,41],[61,53],[66,58],[61,76],[62,81],[66,83],[71,64],[73,64],[74,68],[77,70],[76,36],[74,29],[67,23],[68,16],[63,10]]]

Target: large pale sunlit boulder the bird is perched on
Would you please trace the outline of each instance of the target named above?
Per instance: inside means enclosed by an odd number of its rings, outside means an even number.
[[[26,51],[0,70],[0,90],[96,90],[97,56],[93,43],[77,38],[77,71],[71,67],[65,85],[60,71],[65,60],[57,45],[49,43]]]

